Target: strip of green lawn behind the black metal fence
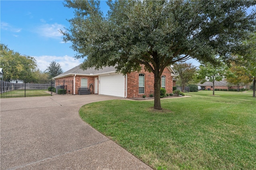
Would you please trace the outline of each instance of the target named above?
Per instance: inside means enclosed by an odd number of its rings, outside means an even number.
[[[35,96],[50,96],[51,93],[48,90],[28,90],[26,89],[26,97],[35,97]],[[12,90],[0,94],[0,98],[8,97],[25,97],[25,90]]]

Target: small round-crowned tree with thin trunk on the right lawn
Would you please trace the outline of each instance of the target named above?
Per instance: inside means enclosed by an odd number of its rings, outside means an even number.
[[[195,79],[200,81],[200,83],[204,83],[206,81],[212,82],[212,95],[215,95],[214,82],[221,81],[227,74],[227,70],[228,67],[224,65],[224,63],[220,65],[213,65],[212,63],[202,64],[199,66],[197,71],[198,74]]]

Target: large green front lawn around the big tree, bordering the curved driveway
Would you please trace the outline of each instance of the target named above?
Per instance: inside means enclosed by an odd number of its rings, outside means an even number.
[[[84,105],[80,116],[152,168],[256,169],[256,99],[252,91],[199,91],[154,101]]]

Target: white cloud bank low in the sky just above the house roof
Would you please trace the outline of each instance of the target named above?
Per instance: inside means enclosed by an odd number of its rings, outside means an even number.
[[[56,63],[59,63],[64,72],[68,71],[69,69],[72,69],[73,67],[76,67],[83,61],[81,59],[75,59],[74,57],[70,57],[68,55],[65,55],[65,56],[42,55],[42,56],[32,56],[32,57],[36,59],[36,63],[41,71],[45,71],[52,61],[56,61]]]

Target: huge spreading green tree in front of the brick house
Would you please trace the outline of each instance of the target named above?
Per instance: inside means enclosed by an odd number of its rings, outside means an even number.
[[[246,9],[256,1],[120,0],[108,1],[104,16],[100,1],[66,0],[74,8],[70,28],[62,31],[72,42],[83,69],[116,66],[123,74],[145,65],[154,73],[154,109],[160,103],[161,75],[177,61],[195,58],[228,60],[248,32],[255,29],[255,12]]]

